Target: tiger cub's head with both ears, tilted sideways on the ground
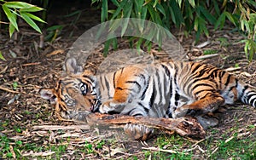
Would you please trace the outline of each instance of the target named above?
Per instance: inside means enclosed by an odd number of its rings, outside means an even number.
[[[84,116],[100,106],[96,79],[90,71],[83,71],[75,59],[65,62],[66,74],[56,83],[55,89],[40,89],[45,100],[55,104],[58,117],[84,120]]]

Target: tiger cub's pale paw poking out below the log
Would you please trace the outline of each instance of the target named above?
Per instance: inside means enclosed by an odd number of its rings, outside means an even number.
[[[125,134],[129,135],[132,140],[148,140],[154,133],[154,129],[149,129],[140,124],[128,123],[124,127]]]

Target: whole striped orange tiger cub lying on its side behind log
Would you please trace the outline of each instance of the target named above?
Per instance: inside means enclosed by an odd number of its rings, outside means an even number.
[[[198,117],[236,100],[256,106],[256,92],[226,71],[196,62],[170,61],[126,66],[93,76],[75,59],[65,62],[67,75],[55,89],[41,89],[41,96],[55,104],[66,119],[83,120],[89,112],[137,117]],[[204,123],[204,122],[200,122]],[[153,132],[127,124],[125,132],[146,140]]]

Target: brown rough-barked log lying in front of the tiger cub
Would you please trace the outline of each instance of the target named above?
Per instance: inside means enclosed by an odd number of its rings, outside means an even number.
[[[204,138],[206,132],[194,117],[183,118],[157,118],[157,117],[131,117],[126,115],[108,115],[101,113],[90,113],[86,116],[90,125],[123,125],[126,123],[143,124],[150,128],[160,129],[167,134],[176,132],[182,136],[191,138]]]

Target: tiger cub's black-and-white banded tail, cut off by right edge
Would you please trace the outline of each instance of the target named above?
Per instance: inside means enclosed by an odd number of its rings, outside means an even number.
[[[238,95],[241,102],[256,107],[256,89],[245,83],[238,83]]]

